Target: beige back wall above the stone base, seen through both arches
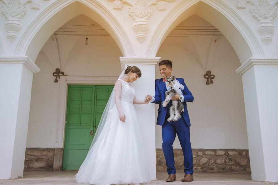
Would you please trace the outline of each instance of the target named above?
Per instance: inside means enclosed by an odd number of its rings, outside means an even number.
[[[80,15],[65,25],[91,23],[97,25],[86,16]],[[170,33],[176,36],[166,38],[157,56],[174,62],[173,74],[185,79],[195,97],[194,102],[188,103],[192,122],[192,148],[247,149],[242,81],[235,73],[240,62],[233,48],[224,36],[180,36],[219,35],[219,32],[203,33],[194,30],[193,33],[173,33],[178,29],[215,29],[212,26],[198,16],[188,18]],[[60,32],[55,33],[66,33],[61,32],[66,31],[63,29],[58,31]],[[214,42],[218,37],[217,42]],[[40,51],[36,65],[41,71],[34,74],[33,78],[27,147],[62,147],[61,143],[55,142],[59,83],[54,83],[52,73],[57,66],[61,64],[62,72],[70,76],[119,75],[119,56],[122,54],[113,39],[110,36],[88,36],[89,44],[85,46],[85,38],[86,36],[53,35]],[[207,71],[206,66],[207,70],[216,75],[212,85],[205,84],[203,75]],[[158,71],[156,77],[160,77]],[[161,146],[161,126],[156,126],[156,147]],[[178,139],[174,148],[180,148]]]

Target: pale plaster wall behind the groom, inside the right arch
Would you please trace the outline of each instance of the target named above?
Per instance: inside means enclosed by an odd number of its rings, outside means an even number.
[[[178,26],[213,26],[192,16]],[[192,28],[191,28],[192,29]],[[211,29],[211,28],[210,28]],[[173,32],[170,35],[174,34]],[[200,33],[202,34],[202,33]],[[207,32],[203,33],[207,34]],[[191,120],[192,148],[247,149],[247,131],[241,65],[224,36],[167,37],[157,56],[173,61],[172,74],[184,78],[194,96],[187,104]],[[206,85],[204,74],[211,70],[214,83]],[[160,78],[159,70],[156,77]],[[157,109],[158,109],[158,105]],[[156,126],[156,147],[162,148],[161,126]],[[181,148],[176,138],[174,148]]]

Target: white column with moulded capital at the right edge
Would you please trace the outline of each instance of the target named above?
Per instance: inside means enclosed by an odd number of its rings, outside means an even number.
[[[278,182],[278,58],[250,58],[242,74],[253,180]]]

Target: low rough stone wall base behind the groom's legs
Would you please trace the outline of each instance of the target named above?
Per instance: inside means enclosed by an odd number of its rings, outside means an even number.
[[[248,172],[250,161],[248,150],[206,150],[192,149],[193,168],[199,172]],[[183,151],[174,149],[175,167],[183,170]],[[156,170],[166,171],[166,162],[162,149],[156,149]]]

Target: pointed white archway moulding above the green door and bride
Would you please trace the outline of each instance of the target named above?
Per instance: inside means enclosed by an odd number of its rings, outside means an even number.
[[[26,29],[15,49],[15,55],[27,55],[34,62],[46,40],[61,25],[85,14],[98,22],[115,40],[123,56],[133,56],[133,49],[121,25],[112,14],[97,1],[56,1],[48,6]]]

